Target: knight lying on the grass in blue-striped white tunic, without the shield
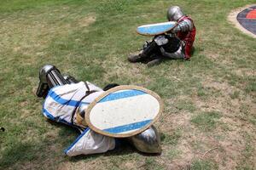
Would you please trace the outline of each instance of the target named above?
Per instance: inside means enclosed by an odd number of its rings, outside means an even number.
[[[118,84],[98,88],[90,82],[79,82],[70,76],[63,77],[54,65],[44,65],[39,71],[39,80],[37,96],[44,98],[43,115],[80,132],[79,137],[65,150],[67,156],[103,153],[116,148],[120,139],[92,131],[84,121],[84,111],[97,96]],[[160,135],[154,126],[124,140],[143,153],[161,152]]]

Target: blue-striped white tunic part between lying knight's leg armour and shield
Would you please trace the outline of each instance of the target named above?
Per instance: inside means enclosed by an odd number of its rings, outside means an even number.
[[[87,91],[84,82],[66,84],[52,88],[44,100],[43,114],[55,122],[63,122],[71,125],[73,111],[79,105],[89,105],[96,97],[102,94],[102,89],[88,82],[90,90],[98,92],[90,94],[80,102]],[[73,120],[75,122],[75,120]]]

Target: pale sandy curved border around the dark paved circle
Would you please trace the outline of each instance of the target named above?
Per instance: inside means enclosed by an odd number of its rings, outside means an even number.
[[[243,33],[247,34],[250,37],[254,37],[256,38],[256,35],[254,35],[252,32],[247,31],[247,29],[245,29],[244,27],[242,27],[239,22],[236,20],[236,16],[237,14],[239,14],[243,9],[245,8],[249,8],[251,6],[254,6],[256,4],[251,4],[251,5],[247,5],[245,7],[241,7],[241,8],[236,8],[234,10],[232,10],[230,12],[230,14],[228,15],[228,20],[234,25],[236,26],[237,29],[239,29],[240,31],[242,31]]]

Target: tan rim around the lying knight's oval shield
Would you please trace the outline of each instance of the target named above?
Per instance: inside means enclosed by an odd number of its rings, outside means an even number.
[[[113,92],[116,92],[118,90],[125,90],[125,89],[135,89],[135,90],[141,90],[147,94],[152,95],[155,99],[157,99],[157,101],[160,104],[160,110],[157,113],[157,115],[154,117],[154,119],[148,123],[147,126],[137,130],[136,132],[131,132],[131,133],[125,133],[125,134],[119,134],[119,133],[108,133],[108,132],[104,132],[101,129],[95,127],[92,125],[92,123],[90,122],[90,111],[92,110],[92,108],[97,104],[98,101],[100,101],[101,99],[103,99],[105,96],[107,96],[108,94],[112,94]],[[105,136],[109,136],[109,137],[114,137],[114,138],[126,138],[126,137],[130,137],[133,135],[136,135],[137,133],[141,133],[144,130],[146,130],[148,127],[150,127],[154,122],[157,121],[157,119],[160,117],[160,113],[163,110],[163,102],[160,99],[160,96],[156,93],[154,93],[151,90],[148,90],[147,88],[142,88],[142,87],[138,87],[138,86],[132,86],[132,85],[120,85],[117,86],[115,88],[111,88],[108,91],[104,92],[103,94],[101,94],[100,96],[98,96],[96,99],[93,100],[93,102],[90,103],[90,105],[87,107],[87,109],[85,110],[85,122],[87,123],[88,127],[90,127],[93,131],[95,131],[96,133],[100,133],[102,135]]]

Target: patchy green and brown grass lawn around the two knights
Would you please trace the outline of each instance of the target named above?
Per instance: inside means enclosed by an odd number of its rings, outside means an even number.
[[[256,169],[256,41],[227,20],[255,0],[1,0],[0,169]],[[148,37],[137,26],[166,21],[180,5],[197,28],[190,61],[147,68],[128,54]],[[154,90],[165,102],[155,124],[163,152],[123,146],[95,156],[64,156],[79,135],[47,121],[35,96],[38,69],[103,87],[109,82]]]

